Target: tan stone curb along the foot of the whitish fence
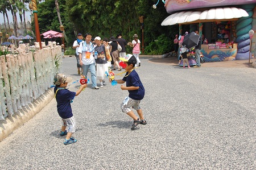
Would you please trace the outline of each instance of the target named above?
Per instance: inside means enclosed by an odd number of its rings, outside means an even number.
[[[16,128],[19,128],[34,117],[35,114],[39,113],[39,111],[42,110],[53,97],[53,88],[48,89],[30,105],[22,107],[22,110],[18,110],[13,115],[8,115],[5,121],[0,121],[0,142],[10,135]]]

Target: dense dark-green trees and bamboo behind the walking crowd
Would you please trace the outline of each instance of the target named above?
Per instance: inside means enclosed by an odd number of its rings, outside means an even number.
[[[142,42],[139,16],[144,16],[144,47],[147,48],[148,53],[170,52],[174,49],[172,42],[175,34],[179,34],[179,26],[161,26],[163,20],[170,14],[166,12],[162,2],[159,2],[157,8],[153,9],[152,5],[155,3],[155,0],[59,0],[61,20],[67,35],[66,47],[73,45],[78,33],[84,35],[87,32],[90,32],[93,37],[100,36],[102,39],[122,34],[126,42],[131,42],[133,35],[138,34]],[[60,32],[54,0],[39,3],[38,20],[41,33],[48,30]],[[166,45],[160,38],[171,43]],[[153,48],[154,44],[150,45],[155,40],[163,45],[160,49]],[[150,47],[147,47],[148,45]],[[131,53],[132,48],[127,47],[127,51]]]

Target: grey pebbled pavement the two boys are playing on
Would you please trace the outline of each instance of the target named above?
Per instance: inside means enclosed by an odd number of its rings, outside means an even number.
[[[63,70],[76,80],[75,60],[66,57]],[[254,68],[141,62],[147,125],[130,130],[119,85],[87,88],[72,103],[77,143],[64,146],[53,99],[0,143],[0,168],[256,169]]]

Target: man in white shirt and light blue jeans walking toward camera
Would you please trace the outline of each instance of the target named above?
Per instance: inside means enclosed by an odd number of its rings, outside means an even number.
[[[85,34],[85,42],[80,43],[79,47],[79,60],[80,65],[82,66],[82,74],[87,76],[88,71],[90,70],[90,78],[92,80],[92,89],[99,89],[96,83],[96,68],[95,68],[95,59],[94,55],[94,45],[91,42],[92,35],[89,33]]]

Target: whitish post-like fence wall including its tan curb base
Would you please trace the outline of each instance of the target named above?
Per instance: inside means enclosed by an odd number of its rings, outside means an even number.
[[[0,56],[0,141],[38,113],[51,99],[53,77],[61,65],[61,47],[20,44]]]

